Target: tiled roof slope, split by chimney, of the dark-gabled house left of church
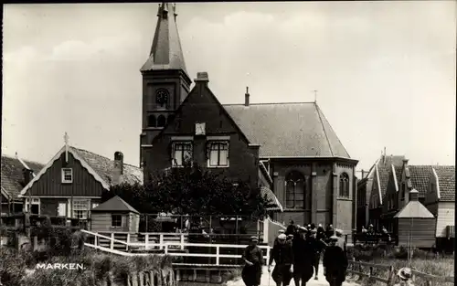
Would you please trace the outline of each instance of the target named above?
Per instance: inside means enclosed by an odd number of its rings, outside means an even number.
[[[90,167],[101,176],[108,185],[112,185],[114,161],[99,154],[91,153],[90,151],[70,147],[76,151],[80,157],[86,161]],[[143,184],[143,170],[132,164],[123,164],[123,174],[120,181],[128,184]]]

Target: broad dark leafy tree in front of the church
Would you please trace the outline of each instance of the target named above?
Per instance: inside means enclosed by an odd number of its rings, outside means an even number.
[[[190,216],[239,215],[260,218],[266,197],[249,182],[232,181],[201,168],[186,164],[153,176],[149,185],[114,185],[108,199],[121,196],[140,213],[175,213]]]

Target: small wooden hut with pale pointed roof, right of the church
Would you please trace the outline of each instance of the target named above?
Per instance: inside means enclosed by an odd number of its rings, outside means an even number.
[[[399,246],[432,248],[435,245],[435,217],[419,202],[419,191],[409,191],[409,202],[395,215]]]

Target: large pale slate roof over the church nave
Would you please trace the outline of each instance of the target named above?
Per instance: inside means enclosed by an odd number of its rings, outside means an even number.
[[[250,143],[260,144],[260,157],[350,158],[314,102],[223,106]]]

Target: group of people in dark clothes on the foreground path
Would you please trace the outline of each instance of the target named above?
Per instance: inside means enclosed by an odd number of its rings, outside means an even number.
[[[263,265],[262,252],[257,247],[258,239],[252,237],[250,246],[243,254],[246,265],[242,271],[242,279],[246,286],[259,286],[261,267]],[[334,229],[330,234],[319,225],[307,227],[295,226],[291,221],[290,226],[280,230],[271,250],[268,261],[268,271],[271,264],[275,266],[271,278],[277,286],[288,286],[292,281],[295,286],[305,286],[313,278],[317,280],[319,262],[324,253],[324,276],[330,286],[341,286],[345,281],[347,270],[347,256],[343,231]]]

